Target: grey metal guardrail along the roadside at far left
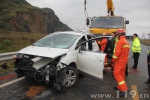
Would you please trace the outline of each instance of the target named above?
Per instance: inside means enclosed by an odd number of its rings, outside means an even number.
[[[17,52],[8,52],[8,53],[0,53],[0,61],[11,60],[13,59],[13,55],[16,55]]]

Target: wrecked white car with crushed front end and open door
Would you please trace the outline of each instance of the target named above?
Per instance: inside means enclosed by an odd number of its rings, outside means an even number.
[[[105,54],[93,34],[84,32],[55,32],[20,50],[15,61],[18,77],[26,76],[57,90],[72,87],[78,73],[103,78]]]

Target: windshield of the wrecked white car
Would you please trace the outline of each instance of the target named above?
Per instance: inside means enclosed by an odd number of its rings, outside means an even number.
[[[69,49],[78,37],[75,34],[53,33],[35,42],[32,46]]]

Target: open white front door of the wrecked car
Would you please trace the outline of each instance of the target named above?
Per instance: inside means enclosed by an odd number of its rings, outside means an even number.
[[[90,46],[91,45],[93,45],[93,43],[91,43]],[[97,45],[97,43],[94,45]],[[89,48],[89,47],[86,47],[86,48]],[[78,60],[78,66],[79,66],[78,69],[79,71],[85,74],[102,79],[103,69],[104,69],[104,58],[105,58],[104,53],[101,53],[99,51],[89,50],[89,49],[85,50],[85,49],[82,49],[82,46],[81,46],[79,47],[78,54],[77,54],[77,60]]]

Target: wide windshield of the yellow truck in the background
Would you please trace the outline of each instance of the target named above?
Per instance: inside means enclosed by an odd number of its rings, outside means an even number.
[[[94,17],[90,28],[124,28],[122,17]]]

